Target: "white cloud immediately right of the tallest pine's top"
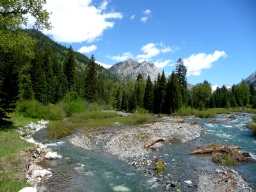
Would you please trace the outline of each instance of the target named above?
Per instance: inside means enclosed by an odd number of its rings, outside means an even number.
[[[213,54],[192,54],[189,58],[184,59],[184,65],[188,69],[188,76],[200,76],[203,69],[211,68],[212,63],[221,57],[227,57],[227,54],[224,51],[215,51]]]

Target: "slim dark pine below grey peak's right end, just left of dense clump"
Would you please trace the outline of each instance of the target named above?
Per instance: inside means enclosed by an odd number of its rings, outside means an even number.
[[[147,109],[149,112],[153,111],[154,108],[154,90],[153,90],[153,83],[148,75],[145,93],[144,93],[144,108]]]

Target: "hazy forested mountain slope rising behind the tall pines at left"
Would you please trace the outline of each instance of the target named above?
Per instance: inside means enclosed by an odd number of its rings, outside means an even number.
[[[54,42],[53,40],[51,40],[51,38],[49,38],[49,36],[46,36],[35,29],[23,29],[23,31],[25,33],[28,33],[29,36],[36,40],[36,45],[38,49],[44,51],[46,47],[50,47],[52,53],[57,54],[58,58],[61,61],[65,59],[65,56],[67,54],[67,47]],[[81,54],[80,52],[74,51],[74,54],[77,60],[77,68],[79,70],[87,70],[87,64],[90,61],[90,59],[84,54]],[[101,79],[117,79],[116,76],[111,74],[108,69],[100,66],[99,64],[96,65],[96,68],[99,72],[99,76]]]

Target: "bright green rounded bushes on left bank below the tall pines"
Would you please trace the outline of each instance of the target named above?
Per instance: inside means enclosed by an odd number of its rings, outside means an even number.
[[[44,106],[36,100],[19,102],[17,111],[25,117],[45,120],[60,120],[65,117],[65,113],[60,106],[53,104]]]

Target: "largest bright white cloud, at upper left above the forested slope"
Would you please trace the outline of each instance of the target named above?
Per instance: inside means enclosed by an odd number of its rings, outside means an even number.
[[[106,12],[107,6],[108,1],[96,8],[92,0],[48,0],[45,8],[52,13],[53,28],[43,32],[57,42],[93,42],[115,26],[113,19],[123,17],[120,12]]]

